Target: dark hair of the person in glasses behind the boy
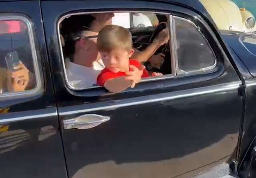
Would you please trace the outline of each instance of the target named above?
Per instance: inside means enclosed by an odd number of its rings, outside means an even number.
[[[89,30],[94,20],[91,14],[84,14],[68,17],[61,22],[60,33],[65,41],[64,57],[69,57],[70,61],[73,61],[76,38],[81,37],[84,30]]]

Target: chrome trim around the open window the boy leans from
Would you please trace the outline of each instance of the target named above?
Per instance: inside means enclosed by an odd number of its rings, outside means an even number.
[[[85,87],[83,89],[76,89],[73,87],[69,82],[67,78],[67,71],[66,71],[66,65],[65,65],[65,60],[64,60],[64,55],[63,55],[63,47],[61,45],[61,39],[60,39],[60,23],[67,17],[74,16],[74,15],[82,15],[82,14],[93,14],[93,13],[107,13],[107,12],[113,12],[113,11],[93,11],[93,12],[77,12],[77,13],[70,13],[66,14],[65,16],[62,16],[58,22],[57,22],[57,36],[58,36],[58,42],[59,42],[59,47],[60,47],[60,54],[61,54],[61,61],[62,61],[62,67],[64,70],[64,76],[65,76],[65,82],[68,86],[69,89],[74,90],[74,91],[82,91],[82,90],[87,90],[87,89],[93,89],[93,88],[100,88],[101,86],[92,86],[92,87]],[[169,16],[170,13],[165,13],[165,12],[155,12],[155,11],[114,11],[117,13],[130,13],[130,12],[136,12],[136,13],[156,13],[156,14],[163,14]],[[153,77],[153,78],[145,78],[140,81],[140,83],[148,82],[148,81],[156,81],[156,80],[162,80],[162,79],[168,79],[174,77],[174,74],[168,74],[164,75],[162,77]]]

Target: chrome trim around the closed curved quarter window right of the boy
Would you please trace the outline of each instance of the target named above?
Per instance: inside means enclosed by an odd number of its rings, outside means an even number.
[[[212,47],[211,47],[211,45],[210,45],[210,43],[208,42],[208,40],[207,40],[207,38],[204,36],[204,34],[200,31],[200,27],[198,27],[194,22],[192,22],[191,20],[188,20],[188,19],[185,19],[185,18],[181,18],[181,17],[178,17],[178,16],[173,16],[173,19],[174,19],[174,30],[176,30],[176,26],[175,26],[175,19],[178,19],[178,20],[182,20],[182,21],[184,21],[184,22],[188,22],[189,24],[191,24],[192,26],[194,26],[196,29],[197,29],[197,31],[201,34],[201,36],[204,38],[204,40],[205,40],[205,42],[208,44],[208,46],[210,47],[210,49],[211,49],[211,51],[212,51],[212,53],[213,53],[213,55],[214,55],[214,64],[213,65],[211,65],[211,66],[208,66],[208,67],[204,67],[204,68],[199,68],[199,69],[197,69],[197,70],[192,70],[192,71],[184,71],[184,73],[178,73],[178,75],[184,75],[184,74],[186,74],[186,75],[190,75],[190,74],[194,74],[194,73],[200,73],[200,72],[205,72],[205,71],[211,71],[211,70],[213,70],[215,67],[216,67],[216,65],[217,65],[217,57],[216,57],[216,55],[215,55],[215,53],[214,53],[214,51],[213,51],[213,49],[212,49]],[[175,33],[176,31],[174,31],[174,33]],[[176,38],[176,33],[174,34],[174,36],[175,36],[175,40],[174,40],[174,43],[176,44],[177,43],[177,38]],[[176,47],[176,46],[175,46]],[[175,48],[176,49],[176,48]],[[176,52],[177,52],[177,50],[175,50]],[[176,55],[176,64],[177,64],[177,67],[178,67],[178,54]],[[178,70],[177,70],[177,72],[179,72],[180,71],[180,69],[179,69],[179,67],[177,68]],[[181,71],[183,71],[183,70],[181,70]]]

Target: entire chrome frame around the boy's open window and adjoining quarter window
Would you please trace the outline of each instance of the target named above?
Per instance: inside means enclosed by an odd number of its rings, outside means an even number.
[[[66,86],[68,87],[68,89],[70,89],[71,91],[87,91],[87,90],[91,90],[91,89],[99,89],[102,88],[102,86],[91,86],[91,87],[86,87],[83,89],[76,89],[75,87],[73,87],[69,82],[68,82],[68,78],[67,78],[67,72],[66,72],[66,66],[65,66],[65,60],[64,60],[64,55],[63,55],[63,47],[61,45],[61,38],[60,38],[60,23],[67,17],[70,16],[74,16],[74,15],[83,15],[83,14],[94,14],[94,13],[108,13],[108,12],[113,12],[113,13],[155,13],[155,14],[163,14],[166,15],[169,21],[169,34],[170,34],[170,51],[171,51],[171,74],[167,74],[167,75],[162,75],[162,76],[158,76],[158,77],[151,77],[151,78],[144,78],[141,79],[140,83],[145,83],[145,82],[150,82],[150,81],[158,81],[158,80],[165,80],[165,79],[170,79],[170,78],[174,78],[174,77],[180,77],[180,76],[189,76],[189,75],[194,75],[194,74],[208,74],[208,73],[213,73],[215,71],[217,71],[218,67],[217,67],[217,57],[216,54],[214,52],[214,50],[212,49],[210,43],[208,42],[207,38],[204,36],[204,34],[202,32],[200,32],[200,30],[198,30],[198,28],[200,29],[200,27],[198,27],[194,22],[192,22],[192,20],[188,20],[187,18],[183,18],[177,15],[172,14],[171,12],[159,12],[159,11],[152,11],[152,10],[111,10],[111,11],[90,11],[90,12],[70,12],[67,13],[63,16],[60,16],[60,18],[57,21],[57,26],[56,26],[56,30],[57,30],[57,38],[58,38],[58,43],[59,43],[59,49],[60,49],[60,55],[61,55],[61,61],[62,61],[62,69],[64,71],[64,80],[66,82]],[[205,67],[202,69],[198,69],[198,70],[194,70],[194,71],[189,71],[186,73],[182,73],[182,74],[178,74],[178,55],[177,55],[177,51],[176,51],[176,34],[175,34],[175,24],[174,24],[174,17],[176,18],[181,18],[183,20],[186,20],[188,22],[190,22],[192,25],[194,25],[196,27],[196,29],[198,30],[198,32],[203,36],[203,38],[206,40],[207,44],[209,45],[210,49],[212,50],[214,57],[215,57],[215,63],[212,66],[209,67]],[[202,22],[202,20],[200,20],[199,18],[197,19],[199,20],[203,26],[205,26],[205,28],[207,30],[208,27],[206,27],[206,25]]]

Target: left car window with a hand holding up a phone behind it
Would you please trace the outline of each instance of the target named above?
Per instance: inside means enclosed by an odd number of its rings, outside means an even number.
[[[16,16],[14,20],[0,20],[0,96],[39,87],[36,54],[32,54],[35,47],[28,23]]]

